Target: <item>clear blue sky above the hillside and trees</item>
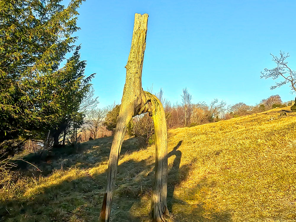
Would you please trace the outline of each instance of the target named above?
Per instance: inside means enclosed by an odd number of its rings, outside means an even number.
[[[273,68],[269,53],[289,52],[296,69],[296,1],[95,1],[78,10],[77,44],[87,60],[99,107],[120,103],[135,13],[148,13],[142,85],[163,88],[181,102],[187,87],[193,102],[223,99],[254,105],[279,94],[294,98],[288,85],[271,91],[273,80],[260,71]]]

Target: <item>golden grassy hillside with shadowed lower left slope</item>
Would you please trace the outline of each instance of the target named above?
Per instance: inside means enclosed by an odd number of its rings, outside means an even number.
[[[169,130],[172,220],[295,221],[296,114],[283,110]],[[0,192],[2,221],[97,221],[111,142],[53,150],[37,164],[42,175],[27,166],[27,176]],[[111,221],[149,221],[154,158],[153,145],[126,138]]]

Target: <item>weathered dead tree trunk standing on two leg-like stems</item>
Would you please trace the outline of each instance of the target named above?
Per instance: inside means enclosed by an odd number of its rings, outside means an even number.
[[[142,89],[142,68],[146,48],[147,22],[148,14],[135,14],[131,51],[126,65],[126,83],[123,89],[118,122],[109,157],[107,186],[100,213],[101,222],[108,222],[110,218],[118,157],[126,127],[133,116],[145,112],[148,112],[153,118],[155,127],[155,177],[150,216],[156,222],[165,221],[165,218],[169,216],[166,202],[168,151],[165,112],[159,99]]]

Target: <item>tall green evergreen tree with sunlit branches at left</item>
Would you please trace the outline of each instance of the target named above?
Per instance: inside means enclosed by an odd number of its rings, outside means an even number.
[[[81,3],[0,0],[0,157],[59,123],[79,103],[80,96],[72,96],[87,91],[93,75],[83,76],[80,47],[59,68],[75,49]]]

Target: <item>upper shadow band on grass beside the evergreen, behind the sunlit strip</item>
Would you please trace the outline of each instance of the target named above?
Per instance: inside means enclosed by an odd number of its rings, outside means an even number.
[[[103,137],[85,141],[73,146],[53,147],[48,151],[38,151],[25,155],[22,160],[13,160],[16,167],[12,170],[21,171],[29,177],[48,176],[54,169],[66,170],[70,167],[89,168],[107,161],[113,137]],[[122,144],[121,154],[131,153],[139,149],[146,149],[147,143],[141,137],[130,137]],[[36,166],[33,167],[31,164]]]

